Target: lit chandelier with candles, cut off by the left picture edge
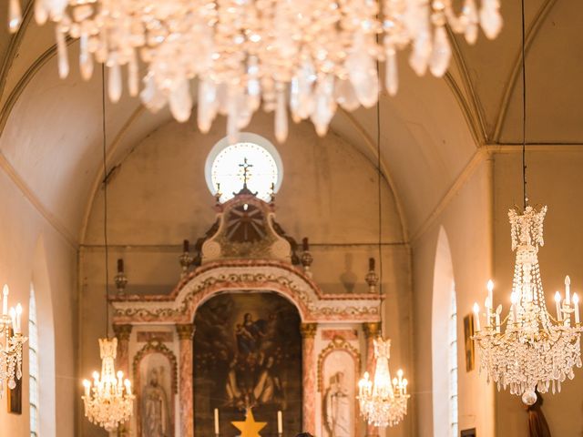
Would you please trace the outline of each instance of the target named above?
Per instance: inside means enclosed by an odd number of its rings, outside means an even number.
[[[22,347],[26,340],[22,335],[22,306],[8,311],[8,286],[2,290],[2,318],[0,318],[0,398],[5,381],[14,390],[16,380],[22,378]]]

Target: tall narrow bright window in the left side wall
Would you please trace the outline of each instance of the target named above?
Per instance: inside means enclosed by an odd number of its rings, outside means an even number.
[[[38,436],[38,325],[33,284],[30,284],[30,299],[28,302],[28,375],[30,435],[31,437],[36,437]]]

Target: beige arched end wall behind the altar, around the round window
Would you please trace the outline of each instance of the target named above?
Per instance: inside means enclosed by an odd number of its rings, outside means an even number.
[[[247,131],[276,144],[271,117],[256,116]],[[179,281],[182,239],[198,239],[214,221],[204,163],[224,132],[222,123],[201,135],[190,124],[169,122],[139,141],[114,170],[107,189],[109,278],[116,259],[123,257],[128,292],[168,293]],[[366,292],[368,258],[380,264],[376,163],[333,133],[317,137],[307,123],[292,125],[289,139],[277,148],[284,168],[277,221],[296,240],[310,238],[313,278],[324,292]],[[410,252],[385,180],[382,198],[385,332],[393,338],[394,371],[403,367],[411,375]],[[104,255],[99,189],[80,255],[81,375],[89,375],[99,362],[97,337],[105,330]],[[81,422],[83,435],[100,435]],[[408,419],[388,435],[411,435],[411,426]]]

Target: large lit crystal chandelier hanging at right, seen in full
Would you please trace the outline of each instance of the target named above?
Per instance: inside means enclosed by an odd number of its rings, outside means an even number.
[[[547,311],[545,295],[538,269],[538,248],[544,245],[543,220],[547,207],[537,211],[527,206],[523,213],[510,209],[512,249],[517,251],[514,281],[510,300],[512,306],[501,320],[502,305],[494,310],[488,282],[486,324],[480,330],[479,308],[474,304],[474,339],[481,352],[480,371],[486,371],[488,381],[497,389],[510,388],[522,395],[522,401],[532,405],[535,391],[545,393],[561,390],[561,383],[573,379],[573,366],[581,367],[578,296],[570,295],[570,280],[565,279],[565,299],[557,291],[557,318]],[[503,330],[504,325],[506,329]]]

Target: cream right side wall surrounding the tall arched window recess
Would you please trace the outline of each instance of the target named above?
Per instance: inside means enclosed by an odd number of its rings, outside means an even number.
[[[465,371],[463,341],[463,318],[470,313],[475,300],[483,300],[484,285],[491,269],[489,162],[483,159],[476,168],[461,175],[464,183],[445,204],[442,212],[430,223],[424,234],[412,244],[415,365],[412,401],[416,409],[416,430],[412,435],[447,437],[434,430],[434,378],[446,378],[447,364],[443,361],[434,363],[432,350],[439,351],[448,347],[446,329],[442,327],[441,335],[432,332],[438,328],[435,325],[439,325],[440,321],[433,320],[434,306],[449,308],[449,301],[445,302],[445,305],[441,305],[443,302],[434,302],[435,276],[442,274],[435,272],[440,229],[443,229],[449,241],[457,293],[459,429],[476,427],[480,436],[495,435],[492,387],[486,386],[485,377],[478,377],[477,369]],[[446,264],[437,262],[438,267]],[[438,344],[435,344],[436,341]],[[440,368],[439,373],[432,373],[432,368]],[[435,381],[436,386],[440,385],[438,382]],[[446,394],[446,391],[436,393],[436,406],[443,407],[443,403],[448,401]],[[440,408],[437,412],[443,414],[443,410]]]

